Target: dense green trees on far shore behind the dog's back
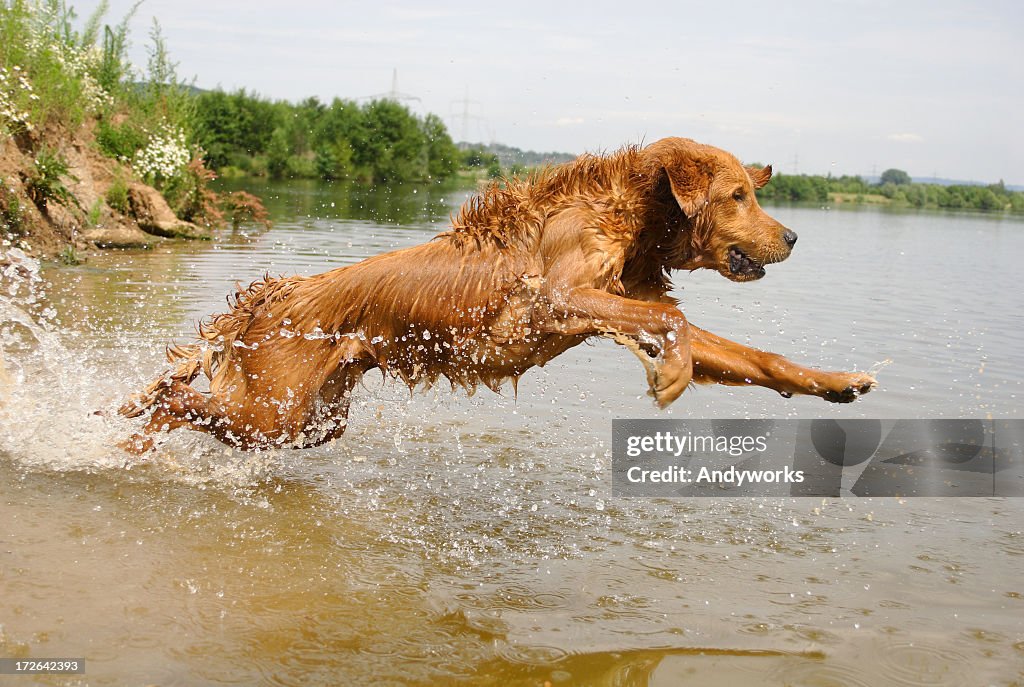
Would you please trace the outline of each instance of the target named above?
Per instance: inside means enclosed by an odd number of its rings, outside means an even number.
[[[194,126],[207,163],[227,173],[400,182],[443,179],[461,164],[439,117],[388,99],[292,103],[206,91]]]

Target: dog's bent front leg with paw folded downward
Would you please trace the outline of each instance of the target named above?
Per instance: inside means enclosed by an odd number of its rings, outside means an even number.
[[[626,345],[644,363],[660,407],[679,398],[693,378],[689,326],[669,303],[578,288],[554,299],[543,319],[542,329],[554,334],[607,336]]]

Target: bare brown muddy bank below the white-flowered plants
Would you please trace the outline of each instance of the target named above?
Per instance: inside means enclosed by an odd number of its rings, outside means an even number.
[[[58,166],[45,171],[47,160]],[[59,173],[57,173],[59,172]],[[148,248],[169,239],[209,239],[210,229],[179,219],[131,168],[102,156],[95,126],[51,128],[0,139],[0,238],[30,255]]]

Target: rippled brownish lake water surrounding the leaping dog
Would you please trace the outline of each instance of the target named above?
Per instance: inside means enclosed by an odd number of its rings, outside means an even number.
[[[0,297],[0,656],[67,685],[987,685],[1024,681],[1024,501],[615,499],[613,418],[1019,418],[1024,222],[776,207],[757,283],[679,274],[717,334],[815,367],[892,360],[851,405],[700,387],[670,411],[583,345],[511,389],[367,377],[333,445],[109,417],[236,281],[428,240],[466,190],[255,188],[271,230],[46,267]],[[95,411],[105,411],[103,417]],[[32,684],[20,678],[17,684]]]

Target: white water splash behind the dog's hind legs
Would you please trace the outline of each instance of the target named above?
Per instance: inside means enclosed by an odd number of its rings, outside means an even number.
[[[112,374],[103,351],[56,318],[40,271],[17,249],[0,252],[0,457],[36,471],[134,470],[227,487],[272,474],[273,452],[225,455],[200,435],[175,436],[144,461],[119,448],[136,427],[117,404],[152,376],[152,353],[118,340],[122,364]]]

